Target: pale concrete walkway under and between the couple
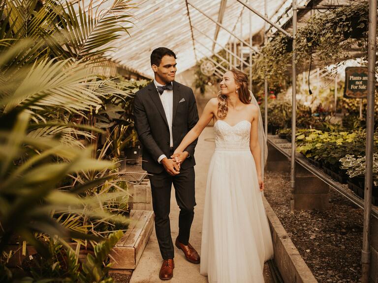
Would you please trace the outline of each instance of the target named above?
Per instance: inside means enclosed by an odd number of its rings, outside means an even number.
[[[194,208],[194,220],[190,232],[190,244],[197,250],[201,251],[201,230],[202,230],[202,215],[205,201],[205,189],[207,171],[211,156],[214,152],[214,131],[213,127],[207,127],[202,132],[198,144],[195,148],[195,160],[197,165],[195,168],[195,197],[196,207]],[[176,203],[175,191],[172,187],[171,194],[171,232],[172,240],[174,241],[178,234],[178,216],[179,208]],[[130,283],[161,283],[158,278],[158,273],[161,267],[162,258],[159,252],[158,240],[156,238],[155,230],[153,231],[150,240],[143,252],[139,263],[134,270]],[[173,279],[169,283],[207,283],[207,277],[199,274],[199,264],[192,264],[187,261],[182,251],[175,247],[175,269]],[[265,282],[273,282],[271,280],[268,265],[264,268]]]

